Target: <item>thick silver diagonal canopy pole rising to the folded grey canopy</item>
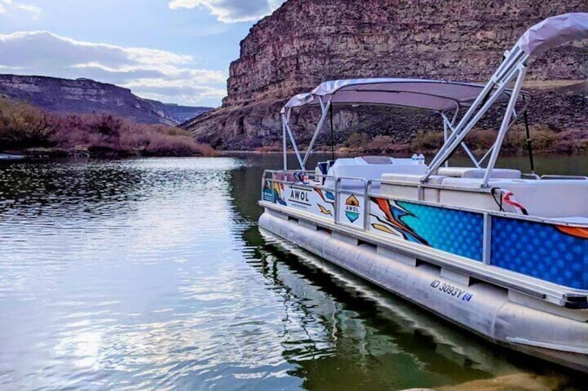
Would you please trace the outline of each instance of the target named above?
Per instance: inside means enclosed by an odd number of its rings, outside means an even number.
[[[509,57],[505,60],[508,64],[501,64],[501,66],[499,66],[499,71],[494,73],[490,82],[486,84],[483,91],[478,95],[478,98],[476,98],[472,106],[469,107],[467,113],[465,113],[465,116],[460,120],[456,127],[455,132],[449,136],[449,142],[443,145],[435,158],[433,158],[431,165],[429,165],[429,170],[427,170],[426,174],[421,179],[422,182],[427,181],[433,172],[436,172],[449,156],[455,152],[465,136],[469,134],[469,131],[473,129],[474,125],[476,125],[482,116],[490,109],[490,107],[492,107],[492,104],[499,99],[508,86],[508,83],[519,73],[520,64],[523,64],[528,57],[529,56],[518,47],[515,47],[510,52]],[[514,102],[519,98],[519,91],[517,91],[517,93],[514,93],[513,91],[512,93],[512,96],[514,96]],[[482,107],[478,108],[479,106]]]

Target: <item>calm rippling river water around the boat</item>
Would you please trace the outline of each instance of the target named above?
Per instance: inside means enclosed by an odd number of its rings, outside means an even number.
[[[0,165],[0,389],[585,385],[263,237],[263,167],[279,156]]]

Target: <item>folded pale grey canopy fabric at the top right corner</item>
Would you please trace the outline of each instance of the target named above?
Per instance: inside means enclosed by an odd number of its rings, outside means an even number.
[[[568,42],[588,39],[588,13],[550,17],[529,28],[517,42],[528,55],[537,55]]]

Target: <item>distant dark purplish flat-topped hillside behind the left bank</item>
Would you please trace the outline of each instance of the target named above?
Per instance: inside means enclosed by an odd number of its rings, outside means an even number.
[[[44,76],[0,75],[0,97],[57,113],[108,112],[146,124],[178,125],[210,110],[139,98],[130,89],[94,80]]]

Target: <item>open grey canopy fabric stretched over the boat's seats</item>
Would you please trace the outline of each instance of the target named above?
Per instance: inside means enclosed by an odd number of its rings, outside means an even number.
[[[451,111],[473,102],[484,86],[424,79],[349,79],[324,82],[310,93],[301,93],[286,103],[286,109],[319,104],[386,104],[432,111]],[[508,96],[508,91],[505,91]]]

